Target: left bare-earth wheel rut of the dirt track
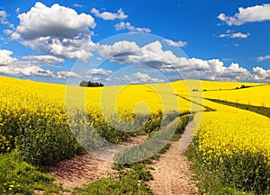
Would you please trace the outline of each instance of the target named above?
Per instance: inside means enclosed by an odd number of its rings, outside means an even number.
[[[56,182],[60,182],[63,188],[72,190],[75,187],[82,187],[90,182],[95,182],[109,173],[112,175],[116,171],[112,170],[113,157],[123,149],[138,145],[147,139],[147,136],[129,137],[122,145],[112,145],[99,148],[85,155],[78,155],[72,159],[59,162],[51,166],[49,173],[55,176]],[[96,157],[95,157],[96,156]]]

